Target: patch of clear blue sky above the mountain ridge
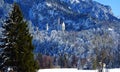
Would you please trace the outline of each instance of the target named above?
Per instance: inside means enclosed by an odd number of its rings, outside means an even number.
[[[120,16],[120,0],[94,0],[104,5],[109,5],[115,16]]]

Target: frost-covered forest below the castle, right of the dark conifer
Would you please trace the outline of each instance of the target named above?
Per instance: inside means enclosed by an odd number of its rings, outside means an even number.
[[[33,31],[35,54],[51,56],[52,63],[60,66],[62,57],[67,67],[93,69],[104,58],[107,68],[119,67],[119,34],[113,28],[83,31]],[[39,57],[39,56],[37,56]],[[111,59],[112,58],[112,59]],[[74,59],[76,59],[74,61]]]

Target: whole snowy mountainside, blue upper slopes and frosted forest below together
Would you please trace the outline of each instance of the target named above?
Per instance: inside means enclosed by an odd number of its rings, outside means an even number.
[[[0,0],[0,26],[13,2],[29,21],[36,60],[41,54],[61,67],[93,69],[101,61],[120,67],[120,19],[111,7],[93,0]]]

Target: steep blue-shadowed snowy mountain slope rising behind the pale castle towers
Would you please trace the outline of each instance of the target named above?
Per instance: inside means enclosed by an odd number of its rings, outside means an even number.
[[[40,30],[45,30],[47,23],[49,30],[58,30],[58,24],[65,22],[66,30],[80,31],[99,27],[101,21],[118,21],[111,7],[93,0],[0,0],[0,17],[7,14],[13,2]]]

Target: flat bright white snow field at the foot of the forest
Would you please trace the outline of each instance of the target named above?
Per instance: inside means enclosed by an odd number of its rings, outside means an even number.
[[[40,69],[38,72],[98,72],[98,70],[78,70],[75,68],[63,69]],[[120,69],[104,69],[103,72],[120,72]]]

